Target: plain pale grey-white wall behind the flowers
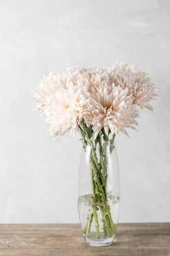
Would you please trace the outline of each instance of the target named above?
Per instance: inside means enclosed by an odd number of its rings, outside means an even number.
[[[49,138],[31,91],[43,75],[116,61],[147,71],[155,112],[117,141],[120,222],[169,222],[170,1],[0,0],[0,222],[78,222],[79,137]]]

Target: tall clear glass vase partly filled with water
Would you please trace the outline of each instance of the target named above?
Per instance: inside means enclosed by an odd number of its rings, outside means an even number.
[[[114,144],[82,149],[78,207],[87,245],[112,244],[120,208],[118,158]]]

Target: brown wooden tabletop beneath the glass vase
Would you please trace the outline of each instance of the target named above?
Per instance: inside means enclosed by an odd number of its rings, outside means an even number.
[[[170,256],[170,223],[118,224],[114,245],[89,247],[79,224],[0,224],[2,256]]]

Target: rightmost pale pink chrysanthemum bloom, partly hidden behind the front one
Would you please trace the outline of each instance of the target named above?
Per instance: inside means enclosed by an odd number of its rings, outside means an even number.
[[[157,90],[151,83],[151,79],[147,77],[147,73],[136,70],[134,65],[126,64],[114,65],[108,69],[110,75],[110,84],[114,83],[116,86],[128,88],[129,94],[133,96],[133,103],[150,110],[153,107],[150,102],[157,96]]]

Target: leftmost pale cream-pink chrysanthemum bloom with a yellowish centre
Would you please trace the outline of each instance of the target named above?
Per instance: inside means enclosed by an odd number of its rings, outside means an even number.
[[[36,109],[46,115],[50,135],[75,133],[89,103],[88,79],[83,71],[50,73],[34,90]]]

